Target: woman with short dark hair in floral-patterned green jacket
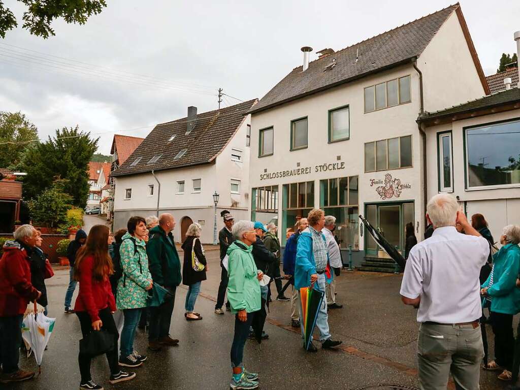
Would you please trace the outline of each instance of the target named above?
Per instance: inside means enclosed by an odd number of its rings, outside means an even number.
[[[141,310],[146,307],[147,290],[152,288],[152,276],[148,270],[148,256],[144,238],[148,233],[146,221],[141,217],[131,217],[127,223],[128,232],[122,237],[119,250],[123,276],[118,282],[116,306],[123,310],[124,324],[121,331],[121,355],[119,364],[138,367],[146,360],[134,350],[134,337]]]

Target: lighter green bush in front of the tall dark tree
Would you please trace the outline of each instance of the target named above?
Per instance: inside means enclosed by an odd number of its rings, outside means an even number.
[[[27,202],[34,225],[55,228],[66,222],[72,197],[64,192],[65,187],[67,180],[54,180],[49,188]]]

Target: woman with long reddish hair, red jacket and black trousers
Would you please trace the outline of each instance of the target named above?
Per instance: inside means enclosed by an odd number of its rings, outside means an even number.
[[[123,372],[119,367],[118,339],[112,313],[115,300],[110,287],[109,276],[113,273],[112,260],[108,254],[110,229],[105,225],[95,225],[90,229],[85,245],[78,251],[74,263],[74,277],[80,282],[74,312],[80,319],[81,333],[85,337],[92,331],[101,329],[113,334],[114,349],[107,352],[110,366],[111,384],[135,378],[135,373]],[[103,387],[92,381],[90,376],[90,356],[79,355],[82,390],[102,390]]]

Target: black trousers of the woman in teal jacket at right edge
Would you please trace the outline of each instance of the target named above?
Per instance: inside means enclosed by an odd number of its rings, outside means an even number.
[[[495,334],[495,361],[506,370],[513,367],[515,339],[513,336],[513,315],[489,312],[489,322]]]

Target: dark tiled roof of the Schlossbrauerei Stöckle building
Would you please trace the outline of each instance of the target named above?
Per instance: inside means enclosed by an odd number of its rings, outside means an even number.
[[[305,72],[302,72],[303,66],[294,68],[250,112],[262,111],[419,57],[457,8],[458,3],[319,58],[310,62]],[[357,53],[359,60],[356,62]],[[334,58],[334,68],[324,71]]]

